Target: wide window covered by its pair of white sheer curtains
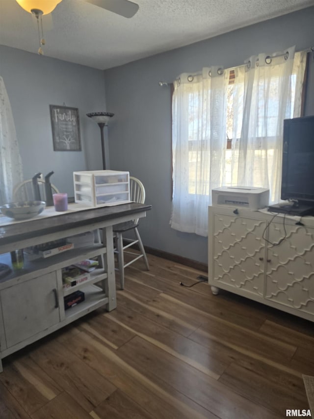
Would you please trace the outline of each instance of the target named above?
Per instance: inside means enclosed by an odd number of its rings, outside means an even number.
[[[219,186],[265,187],[271,202],[280,199],[283,120],[300,115],[306,53],[292,47],[250,60],[174,83],[173,228],[207,235],[211,190]]]

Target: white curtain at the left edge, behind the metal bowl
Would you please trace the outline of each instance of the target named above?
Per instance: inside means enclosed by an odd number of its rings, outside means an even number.
[[[23,180],[22,161],[10,101],[0,77],[0,204],[12,201],[13,187]]]

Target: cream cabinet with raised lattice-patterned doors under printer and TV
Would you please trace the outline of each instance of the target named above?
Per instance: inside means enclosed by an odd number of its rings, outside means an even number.
[[[209,207],[209,285],[314,321],[314,217]]]

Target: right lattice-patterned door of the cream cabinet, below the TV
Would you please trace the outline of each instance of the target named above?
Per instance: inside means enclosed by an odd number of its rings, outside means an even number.
[[[286,220],[268,230],[265,297],[314,314],[314,228]]]

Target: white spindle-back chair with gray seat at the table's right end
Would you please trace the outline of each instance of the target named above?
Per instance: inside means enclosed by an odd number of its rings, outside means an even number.
[[[143,204],[145,202],[145,188],[142,182],[139,179],[136,179],[135,177],[130,176],[130,199],[133,202],[139,202]],[[116,268],[117,271],[119,271],[120,274],[120,287],[121,289],[124,289],[124,269],[131,265],[131,263],[134,263],[139,258],[144,258],[144,263],[146,266],[146,269],[149,271],[149,264],[146,257],[146,253],[144,250],[144,246],[142,243],[142,240],[140,238],[137,226],[139,223],[139,219],[132,220],[126,223],[120,223],[113,226],[113,232],[115,234],[114,240],[115,240],[115,250],[114,252],[117,254],[118,257],[118,268]],[[126,239],[123,238],[123,234],[127,231],[132,231],[135,235],[135,239]],[[123,242],[126,242],[128,244],[123,245]],[[129,249],[131,246],[138,245],[140,254],[132,252],[132,251],[126,251],[126,249]],[[129,260],[127,263],[124,262],[124,255],[131,255],[132,259]]]

